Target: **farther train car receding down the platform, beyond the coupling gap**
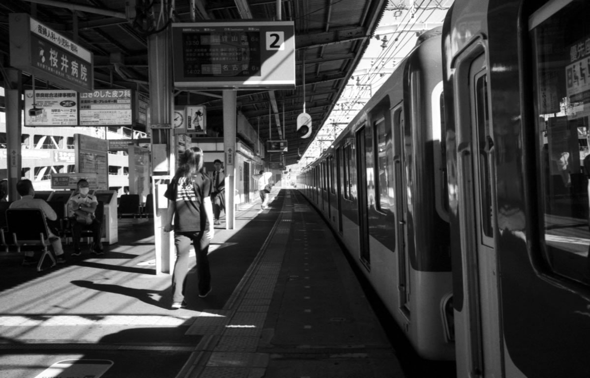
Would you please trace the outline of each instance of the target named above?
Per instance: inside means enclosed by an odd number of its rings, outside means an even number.
[[[334,185],[340,198],[328,188],[317,208],[417,352],[448,360],[454,358],[454,343],[452,316],[445,316],[451,273],[446,207],[441,205],[437,48],[440,36],[422,42],[310,170],[331,175],[323,167],[336,157],[340,181]]]

